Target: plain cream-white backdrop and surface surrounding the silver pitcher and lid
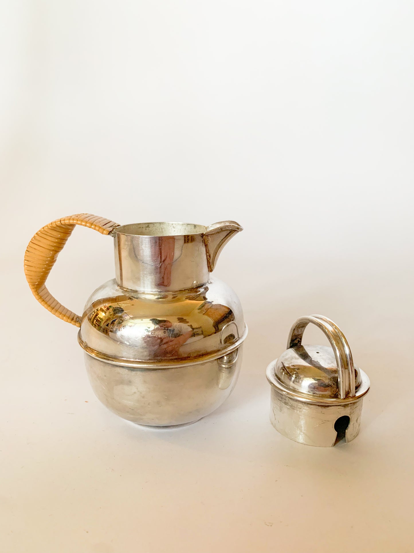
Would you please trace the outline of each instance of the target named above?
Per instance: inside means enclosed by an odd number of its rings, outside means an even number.
[[[414,14],[406,2],[9,2],[3,82],[1,549],[411,553]],[[31,295],[47,221],[232,218],[215,274],[250,334],[192,426],[100,405],[77,329]],[[78,227],[47,281],[76,312],[113,278]],[[264,371],[301,315],[330,317],[371,380],[350,444],[269,422]],[[316,329],[305,343],[326,343]]]

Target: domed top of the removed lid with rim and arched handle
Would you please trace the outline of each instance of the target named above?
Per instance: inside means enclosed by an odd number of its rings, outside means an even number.
[[[301,344],[306,325],[319,326],[330,346]],[[291,328],[288,349],[270,363],[267,378],[275,388],[298,400],[337,403],[368,392],[367,375],[353,364],[348,342],[339,328],[321,315],[301,317]]]

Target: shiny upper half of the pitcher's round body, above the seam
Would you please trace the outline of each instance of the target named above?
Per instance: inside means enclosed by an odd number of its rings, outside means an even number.
[[[112,280],[89,298],[79,343],[105,361],[167,367],[225,355],[246,332],[240,301],[221,281],[144,294],[126,292]]]

